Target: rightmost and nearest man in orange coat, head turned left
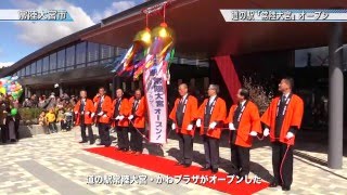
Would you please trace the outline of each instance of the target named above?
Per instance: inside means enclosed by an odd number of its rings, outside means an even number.
[[[264,135],[270,134],[272,142],[274,181],[270,187],[282,185],[283,191],[290,191],[293,182],[293,145],[304,115],[304,102],[293,94],[293,87],[292,78],[283,78],[279,84],[282,95],[273,99],[261,116]]]

